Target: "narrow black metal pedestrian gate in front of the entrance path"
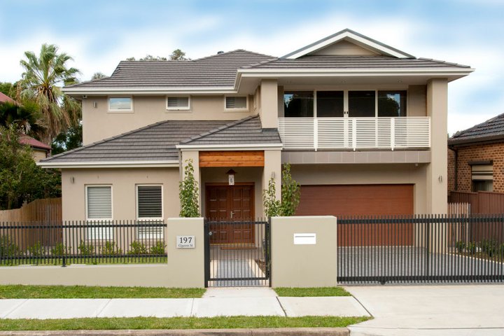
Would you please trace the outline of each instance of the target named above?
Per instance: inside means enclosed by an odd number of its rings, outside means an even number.
[[[205,286],[270,286],[269,221],[205,220]]]

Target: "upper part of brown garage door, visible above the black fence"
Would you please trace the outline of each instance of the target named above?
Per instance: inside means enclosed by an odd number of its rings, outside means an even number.
[[[298,216],[413,214],[412,184],[301,186]]]

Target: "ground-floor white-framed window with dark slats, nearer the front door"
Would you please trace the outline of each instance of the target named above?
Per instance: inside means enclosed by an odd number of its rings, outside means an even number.
[[[163,220],[162,185],[137,185],[137,221],[142,225],[158,225]],[[139,239],[159,239],[163,237],[162,226],[140,227]]]

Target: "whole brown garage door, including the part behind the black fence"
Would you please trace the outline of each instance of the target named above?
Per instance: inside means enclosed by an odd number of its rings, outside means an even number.
[[[411,215],[413,204],[411,184],[302,186],[296,215]],[[404,246],[413,237],[412,224],[338,225],[338,246]]]

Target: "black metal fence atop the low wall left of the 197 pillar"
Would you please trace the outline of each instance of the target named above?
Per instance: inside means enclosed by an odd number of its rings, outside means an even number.
[[[0,265],[166,262],[162,221],[0,223]]]

